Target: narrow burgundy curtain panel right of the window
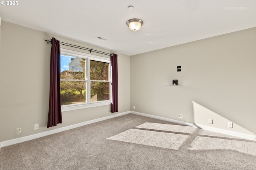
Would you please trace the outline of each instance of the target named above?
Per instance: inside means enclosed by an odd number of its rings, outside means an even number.
[[[110,64],[112,68],[112,99],[111,99],[111,113],[118,112],[118,89],[117,89],[117,57],[116,54],[110,55]]]

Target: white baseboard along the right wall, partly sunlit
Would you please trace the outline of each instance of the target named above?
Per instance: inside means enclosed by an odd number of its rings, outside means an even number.
[[[175,120],[175,119],[169,119],[169,118],[159,117],[159,116],[154,116],[154,115],[148,115],[148,114],[140,113],[140,112],[131,111],[131,113],[133,113],[135,115],[141,115],[141,116],[145,116],[145,117],[159,119],[159,120],[162,120],[162,121],[168,121],[168,122],[177,123],[177,124],[180,124],[180,125],[186,125],[186,126],[190,126],[190,127],[202,128],[204,130],[209,130],[209,131],[212,131],[212,132],[218,132],[218,133],[222,133],[222,134],[227,134],[227,135],[236,136],[236,137],[239,137],[239,138],[245,138],[245,139],[256,141],[256,135],[244,134],[244,133],[240,133],[240,132],[234,132],[234,131],[224,130],[224,129],[220,129],[220,128],[208,127],[208,126],[204,126],[204,125],[197,125],[197,124],[194,124],[194,123],[178,121],[178,120]]]

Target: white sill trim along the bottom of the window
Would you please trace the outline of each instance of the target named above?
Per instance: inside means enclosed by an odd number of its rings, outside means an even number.
[[[111,101],[72,105],[72,106],[62,106],[61,111],[66,112],[66,111],[73,111],[73,110],[78,110],[78,109],[86,109],[86,108],[90,108],[90,107],[98,107],[98,106],[105,106],[105,105],[111,105]]]

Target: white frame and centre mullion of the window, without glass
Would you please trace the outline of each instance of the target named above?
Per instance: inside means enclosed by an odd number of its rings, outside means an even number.
[[[87,54],[87,53],[82,53],[82,52],[78,52],[78,51],[73,51],[73,50],[69,50],[69,49],[64,49],[61,48],[60,49],[60,53],[61,55],[68,55],[68,56],[72,56],[72,57],[79,57],[79,58],[85,58],[86,59],[86,101],[87,103],[78,103],[78,104],[72,104],[72,105],[62,105],[61,106],[61,111],[65,112],[65,111],[72,111],[72,110],[77,110],[77,109],[85,109],[85,108],[89,108],[89,107],[98,107],[98,106],[104,106],[104,105],[110,105],[111,104],[111,90],[110,91],[110,100],[107,101],[96,101],[96,102],[91,102],[90,101],[90,97],[88,99],[88,94],[91,93],[90,91],[90,68],[88,68],[88,66],[90,66],[90,60],[94,60],[94,61],[102,61],[102,62],[106,62],[109,63],[109,81],[111,82],[112,79],[112,75],[111,75],[111,71],[110,71],[110,58],[107,57],[101,57],[101,56],[97,56],[97,55],[92,55],[92,54]],[[88,81],[88,82],[87,82]],[[111,88],[111,85],[110,85]]]

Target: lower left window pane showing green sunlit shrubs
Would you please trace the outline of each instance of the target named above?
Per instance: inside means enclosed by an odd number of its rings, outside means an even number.
[[[61,105],[86,102],[85,81],[60,81]]]

